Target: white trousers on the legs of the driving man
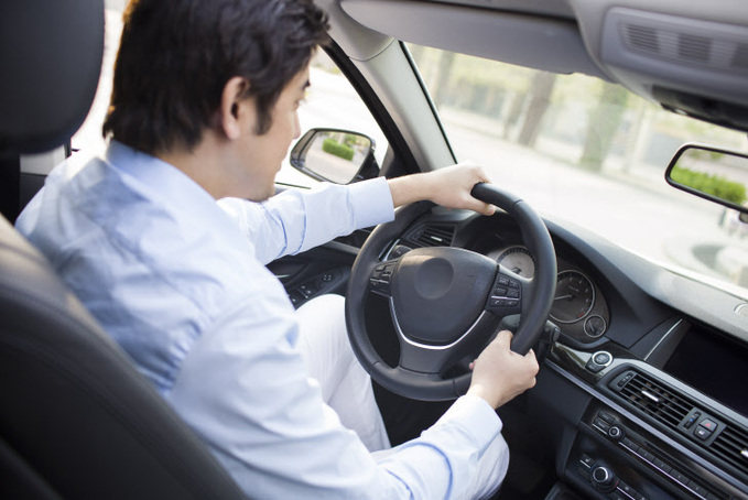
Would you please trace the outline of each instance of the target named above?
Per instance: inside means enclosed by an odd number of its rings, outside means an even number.
[[[296,312],[299,348],[310,376],[319,382],[322,398],[355,431],[375,458],[394,453],[375,400],[371,379],[350,347],[345,320],[345,298],[322,295]],[[509,466],[509,448],[499,434],[478,460],[465,499],[489,498],[501,485]]]

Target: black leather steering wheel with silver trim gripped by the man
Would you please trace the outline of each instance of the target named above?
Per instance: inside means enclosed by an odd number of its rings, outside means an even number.
[[[392,222],[378,226],[361,248],[346,295],[346,323],[354,352],[364,369],[386,389],[422,401],[454,400],[467,392],[470,372],[447,371],[477,355],[496,336],[501,318],[520,314],[511,349],[524,355],[536,343],[553,304],[556,257],[543,220],[522,199],[489,184],[473,196],[514,218],[535,258],[527,279],[486,256],[462,248],[411,250],[381,262],[392,240],[434,204],[419,202],[398,209]],[[390,367],[367,333],[369,294],[387,297],[400,345],[398,366]]]

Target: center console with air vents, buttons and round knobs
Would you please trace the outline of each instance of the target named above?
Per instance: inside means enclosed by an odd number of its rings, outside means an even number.
[[[549,359],[590,395],[557,464],[584,498],[748,499],[744,415],[613,343]]]

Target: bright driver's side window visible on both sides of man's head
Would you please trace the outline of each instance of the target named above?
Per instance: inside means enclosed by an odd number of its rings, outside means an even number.
[[[95,155],[101,154],[106,148],[101,137],[101,124],[111,95],[115,58],[122,32],[123,7],[124,2],[121,0],[106,2],[101,77],[88,117],[71,141],[73,152],[80,151],[86,155]],[[375,141],[375,156],[381,165],[388,148],[384,134],[350,83],[324,51],[318,50],[315,54],[310,74],[312,86],[305,102],[299,109],[302,134],[312,128],[347,129],[367,134]],[[275,181],[281,184],[307,187],[317,183],[292,167],[288,155]]]

